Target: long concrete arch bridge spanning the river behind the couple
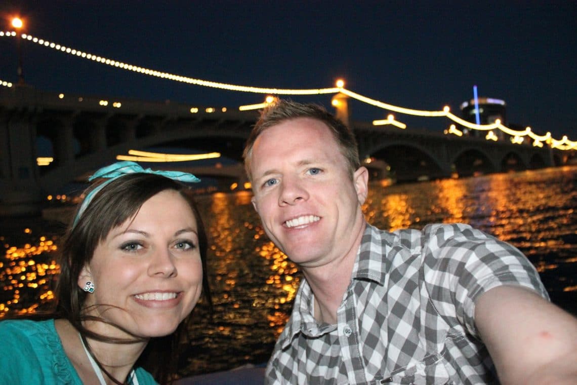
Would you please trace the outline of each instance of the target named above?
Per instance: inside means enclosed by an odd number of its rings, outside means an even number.
[[[31,87],[0,87],[0,215],[38,212],[46,195],[129,149],[178,147],[220,152],[241,162],[256,111],[220,106],[145,102],[63,95]],[[473,137],[351,122],[359,154],[374,178],[390,172],[398,181],[535,169],[566,161],[559,150],[493,142]],[[38,141],[52,149],[54,162],[38,166]],[[162,169],[163,163],[155,163]],[[181,166],[182,167],[182,166]],[[170,167],[174,169],[173,166]],[[200,177],[227,178],[242,185],[242,166],[186,170]]]

